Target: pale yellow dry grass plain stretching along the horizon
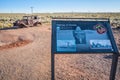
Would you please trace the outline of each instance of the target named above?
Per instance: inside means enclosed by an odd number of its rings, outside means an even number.
[[[6,13],[0,14],[0,19],[22,19],[22,16],[30,14],[17,14],[17,13]],[[53,17],[58,18],[110,18],[111,21],[114,19],[120,19],[120,13],[34,13],[33,15],[38,15],[41,21],[44,23],[51,23]]]

